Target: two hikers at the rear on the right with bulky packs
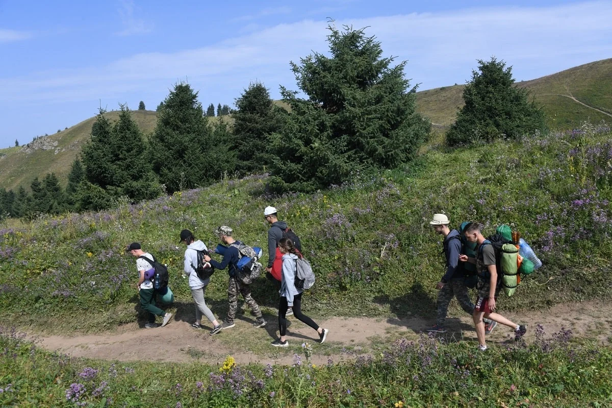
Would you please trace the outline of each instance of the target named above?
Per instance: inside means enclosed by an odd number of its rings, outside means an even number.
[[[498,323],[512,328],[515,340],[522,338],[526,327],[495,311],[502,288],[507,295],[512,295],[520,283],[521,273],[529,274],[542,266],[531,247],[507,225],[500,225],[495,235],[485,238],[476,222],[463,222],[458,229],[451,230],[445,214],[435,214],[430,224],[436,233],[444,236],[446,271],[436,285],[439,290],[436,324],[428,331],[446,333],[444,324],[449,304],[457,297],[461,308],[472,315],[479,350],[487,350],[485,335]],[[476,303],[468,295],[469,288],[473,287],[477,291]]]

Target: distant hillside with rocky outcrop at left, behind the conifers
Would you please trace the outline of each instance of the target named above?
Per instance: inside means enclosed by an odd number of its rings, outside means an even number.
[[[119,118],[119,111],[110,111],[105,115],[114,121]],[[132,111],[132,117],[145,135],[152,132],[157,121],[157,113],[149,110]],[[24,186],[29,189],[35,177],[42,178],[51,172],[64,184],[70,165],[89,140],[94,122],[95,116],[27,145],[1,149],[0,187],[17,190],[19,186]]]

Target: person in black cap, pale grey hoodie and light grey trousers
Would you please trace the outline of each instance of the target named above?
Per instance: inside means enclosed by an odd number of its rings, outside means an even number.
[[[212,334],[217,334],[221,331],[221,325],[217,319],[215,319],[211,309],[206,306],[206,301],[204,300],[204,291],[206,291],[206,286],[209,284],[210,278],[202,280],[196,272],[198,251],[208,251],[208,249],[202,241],[195,239],[195,236],[193,236],[190,230],[181,231],[181,241],[179,241],[179,243],[187,245],[183,270],[185,274],[189,276],[189,288],[191,289],[193,301],[195,302],[195,323],[192,324],[192,327],[201,328],[201,319],[202,315],[204,315],[213,325],[209,333],[212,336]]]

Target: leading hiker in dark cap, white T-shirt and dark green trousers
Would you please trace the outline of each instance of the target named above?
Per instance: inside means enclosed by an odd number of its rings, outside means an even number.
[[[162,327],[164,327],[170,322],[172,314],[166,313],[155,306],[156,293],[155,289],[153,289],[153,282],[151,281],[153,272],[149,274],[149,271],[153,268],[153,255],[149,254],[149,252],[144,252],[140,243],[137,242],[129,244],[125,248],[125,252],[129,252],[132,256],[138,258],[136,259],[136,269],[138,270],[138,284],[136,284],[136,289],[138,290],[138,295],[140,295],[140,307],[148,312],[149,315],[149,322],[144,325],[144,328],[157,327],[157,324],[155,324],[155,315],[163,317]],[[151,260],[151,262],[147,262],[146,259],[140,257],[145,257]]]

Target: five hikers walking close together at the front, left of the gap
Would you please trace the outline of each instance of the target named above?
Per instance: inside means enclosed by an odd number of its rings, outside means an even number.
[[[275,285],[280,295],[278,304],[278,329],[280,335],[278,339],[272,341],[274,347],[287,347],[286,339],[287,320],[286,317],[294,315],[298,320],[316,330],[319,342],[323,343],[327,338],[329,330],[319,327],[310,317],[302,313],[302,293],[310,289],[315,282],[310,263],[304,258],[301,251],[299,238],[286,222],[278,221],[276,208],[266,207],[264,218],[271,224],[267,232],[268,243],[268,263],[266,267],[267,278]],[[215,230],[215,234],[221,241],[214,251],[209,251],[201,240],[196,239],[190,230],[182,230],[179,243],[185,244],[184,273],[188,276],[189,287],[195,303],[195,322],[194,328],[203,327],[201,319],[206,316],[212,324],[209,334],[217,334],[222,330],[236,326],[236,311],[238,306],[238,296],[242,295],[245,303],[255,316],[253,326],[256,328],[265,327],[266,320],[263,318],[259,305],[253,299],[250,285],[258,278],[263,269],[259,263],[263,251],[258,247],[250,247],[233,236],[233,229],[227,225],[222,225]],[[156,306],[155,298],[160,296],[162,303],[171,303],[174,300],[173,294],[168,288],[168,271],[165,265],[155,260],[153,255],[144,252],[140,243],[129,244],[126,248],[136,259],[138,269],[138,291],[140,294],[140,304],[147,312],[148,322],[145,328],[157,327],[155,316],[163,317],[161,324],[164,327],[172,317]],[[222,260],[217,261],[211,257],[211,252],[222,255]],[[229,309],[224,322],[215,318],[211,309],[206,305],[204,292],[210,282],[215,270],[228,269],[228,302]]]

